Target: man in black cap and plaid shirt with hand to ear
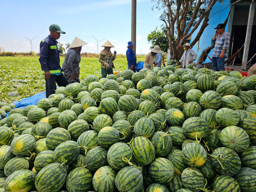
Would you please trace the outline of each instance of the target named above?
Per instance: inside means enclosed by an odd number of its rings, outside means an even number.
[[[229,56],[229,43],[230,43],[230,34],[225,31],[225,25],[220,23],[217,25],[217,29],[211,43],[215,43],[212,60],[213,60],[213,69],[215,71],[224,71],[225,58]]]

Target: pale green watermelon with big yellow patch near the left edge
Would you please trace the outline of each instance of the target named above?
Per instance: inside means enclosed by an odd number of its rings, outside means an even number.
[[[12,153],[16,156],[25,156],[36,147],[36,139],[29,134],[17,136],[11,143]]]

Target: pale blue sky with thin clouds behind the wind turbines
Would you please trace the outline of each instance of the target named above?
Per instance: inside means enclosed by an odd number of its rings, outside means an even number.
[[[160,11],[152,11],[151,0],[137,0],[137,54],[149,52],[147,35],[160,27]],[[58,24],[66,32],[58,40],[64,45],[78,37],[88,44],[82,52],[96,53],[98,39],[101,45],[109,40],[118,54],[125,54],[131,40],[131,0],[62,0],[62,1],[14,1],[0,0],[0,47],[9,52],[39,52],[39,44],[48,36],[50,24]],[[66,46],[64,46],[66,47]]]

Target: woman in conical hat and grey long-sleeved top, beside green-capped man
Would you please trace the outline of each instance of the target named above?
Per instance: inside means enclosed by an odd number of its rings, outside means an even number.
[[[80,67],[79,63],[81,61],[81,49],[83,45],[87,43],[83,40],[75,37],[73,42],[69,46],[69,50],[65,56],[65,60],[62,64],[62,69],[66,79],[68,80],[68,84],[78,82],[79,74],[80,74]]]

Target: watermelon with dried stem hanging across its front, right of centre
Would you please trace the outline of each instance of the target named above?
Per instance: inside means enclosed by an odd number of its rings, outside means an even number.
[[[163,157],[171,152],[173,141],[171,136],[163,131],[155,132],[150,138],[151,143],[155,148],[155,155]]]

